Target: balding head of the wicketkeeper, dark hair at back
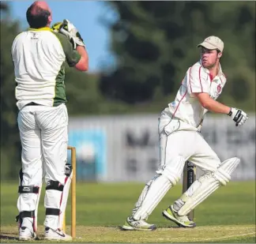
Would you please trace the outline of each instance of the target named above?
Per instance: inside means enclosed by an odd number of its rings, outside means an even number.
[[[33,2],[28,8],[26,15],[31,28],[43,28],[51,24],[51,9],[47,2]]]

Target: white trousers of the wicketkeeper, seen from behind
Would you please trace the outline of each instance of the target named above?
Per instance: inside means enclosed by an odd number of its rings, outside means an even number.
[[[66,105],[25,106],[19,111],[17,122],[22,145],[20,186],[41,187],[43,177],[45,182],[64,185],[68,143]],[[47,190],[45,208],[59,208],[61,194],[61,191]],[[35,210],[37,197],[38,194],[21,193],[17,200],[19,212]]]

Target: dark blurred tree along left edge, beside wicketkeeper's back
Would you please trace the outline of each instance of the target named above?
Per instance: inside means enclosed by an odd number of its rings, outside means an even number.
[[[13,39],[20,31],[17,21],[9,21],[9,6],[0,5],[1,16],[1,179],[17,176],[20,167],[20,141],[17,129],[17,108],[13,62],[10,55]],[[10,162],[13,162],[10,165]]]

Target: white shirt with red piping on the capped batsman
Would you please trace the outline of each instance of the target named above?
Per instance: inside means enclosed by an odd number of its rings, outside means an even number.
[[[198,127],[207,110],[201,106],[193,92],[206,92],[213,99],[217,99],[226,81],[221,66],[219,73],[213,78],[209,69],[205,69],[200,61],[195,63],[186,71],[175,100],[168,104],[164,114],[168,114],[171,118],[179,118],[189,126]]]

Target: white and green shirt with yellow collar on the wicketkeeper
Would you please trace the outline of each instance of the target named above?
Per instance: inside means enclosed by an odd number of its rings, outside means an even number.
[[[64,63],[75,66],[81,58],[66,36],[51,28],[28,28],[13,40],[11,54],[19,110],[31,102],[51,107],[66,103]]]

